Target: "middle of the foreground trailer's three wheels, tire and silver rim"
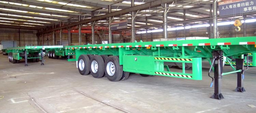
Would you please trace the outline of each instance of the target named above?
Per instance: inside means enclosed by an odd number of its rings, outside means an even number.
[[[104,75],[104,60],[100,55],[94,55],[90,59],[90,74],[94,78],[101,78]]]

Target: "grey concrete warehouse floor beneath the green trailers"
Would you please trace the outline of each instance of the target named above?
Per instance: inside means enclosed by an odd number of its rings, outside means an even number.
[[[255,69],[245,72],[245,93],[233,91],[235,74],[224,76],[225,99],[216,100],[209,98],[214,88],[209,87],[207,68],[201,81],[132,74],[128,80],[111,82],[82,76],[75,62],[64,59],[46,58],[44,66],[29,62],[24,67],[24,62],[12,64],[1,54],[0,113],[255,113],[256,108],[248,106],[256,106]],[[225,66],[224,72],[230,70]]]

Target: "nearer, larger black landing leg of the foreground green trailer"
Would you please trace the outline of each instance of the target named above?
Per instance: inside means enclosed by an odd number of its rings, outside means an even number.
[[[213,58],[215,61],[213,62],[214,66],[214,94],[211,98],[214,99],[223,99],[223,95],[221,93],[221,79],[222,79],[222,67],[223,67],[223,51],[213,51]]]

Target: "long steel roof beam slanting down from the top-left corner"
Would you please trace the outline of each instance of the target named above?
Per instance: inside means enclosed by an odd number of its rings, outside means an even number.
[[[49,8],[70,10],[70,11],[76,11],[76,12],[91,14],[91,11],[88,11],[88,10],[81,10],[81,9],[75,9],[75,8],[70,8],[70,7],[59,7],[59,6],[47,5],[47,4],[39,4],[39,3],[28,2],[28,1],[23,1],[23,0],[2,0],[2,1],[23,3],[23,4],[29,4],[29,5],[35,5],[35,6],[42,6],[42,7],[49,7]]]

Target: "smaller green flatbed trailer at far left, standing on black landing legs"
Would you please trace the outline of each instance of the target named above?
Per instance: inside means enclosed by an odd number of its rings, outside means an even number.
[[[63,48],[63,46],[24,46],[24,47],[13,47],[7,48],[9,62],[19,63],[21,59],[25,59],[25,66],[28,66],[28,59],[33,62],[39,62],[41,59],[41,65],[44,65],[43,52],[48,49]]]

